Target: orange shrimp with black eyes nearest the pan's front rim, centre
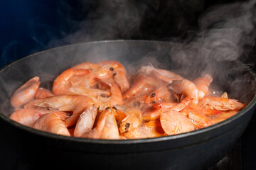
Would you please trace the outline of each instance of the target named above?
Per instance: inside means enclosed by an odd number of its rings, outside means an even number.
[[[138,108],[117,105],[114,106],[117,108],[117,115],[122,114],[126,117],[122,120],[119,120],[120,123],[120,132],[128,132],[134,128],[138,128],[142,124],[142,112]]]

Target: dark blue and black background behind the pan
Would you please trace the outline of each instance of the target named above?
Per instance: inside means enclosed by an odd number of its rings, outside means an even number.
[[[136,11],[129,13],[127,18],[120,18],[117,8],[124,8],[122,1],[1,0],[0,67],[33,52],[75,42],[114,39],[189,41],[198,32],[198,17],[206,8],[230,2],[234,1],[134,0],[129,4],[137,6]],[[133,10],[134,6],[125,6],[123,13]],[[109,18],[106,20],[104,16]],[[139,18],[135,19],[135,16]],[[98,21],[108,24],[101,26]],[[255,70],[255,47],[247,47],[246,55],[242,62]],[[255,126],[253,116],[238,145],[242,159],[237,169],[256,169]]]

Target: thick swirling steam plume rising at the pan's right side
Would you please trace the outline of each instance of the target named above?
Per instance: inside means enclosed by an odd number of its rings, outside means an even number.
[[[201,14],[197,37],[174,45],[171,56],[193,75],[218,72],[215,62],[241,60],[255,45],[255,1],[214,6]],[[201,67],[198,67],[201,66]],[[192,69],[191,69],[192,68]],[[192,72],[191,72],[192,71]]]

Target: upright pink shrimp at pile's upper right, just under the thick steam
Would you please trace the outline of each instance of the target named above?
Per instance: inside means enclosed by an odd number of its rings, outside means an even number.
[[[198,77],[197,79],[193,80],[193,83],[196,85],[198,89],[198,98],[203,98],[208,93],[208,88],[210,83],[213,81],[213,77],[210,74],[206,74],[203,77]]]

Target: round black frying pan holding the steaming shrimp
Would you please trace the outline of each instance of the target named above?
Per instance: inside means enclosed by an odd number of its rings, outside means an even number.
[[[216,86],[247,104],[238,114],[208,128],[179,135],[137,140],[94,140],[65,137],[28,128],[9,119],[11,94],[31,77],[51,88],[53,79],[80,62],[117,60],[129,72],[142,64],[181,69],[172,60],[169,42],[112,40],[56,47],[24,57],[0,72],[1,167],[4,169],[205,169],[233,147],[255,109],[255,73],[237,61],[215,62]],[[200,65],[196,67],[199,70]],[[187,65],[186,67],[191,67]],[[213,67],[210,67],[213,68]],[[182,76],[198,76],[196,71]],[[225,80],[225,81],[223,81]],[[239,81],[238,81],[239,80]]]

